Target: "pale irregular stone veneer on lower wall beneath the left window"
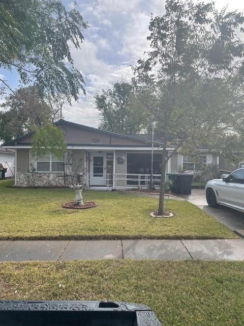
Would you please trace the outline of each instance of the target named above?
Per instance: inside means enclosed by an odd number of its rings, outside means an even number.
[[[64,186],[64,178],[56,173],[17,172],[16,185],[22,187]]]

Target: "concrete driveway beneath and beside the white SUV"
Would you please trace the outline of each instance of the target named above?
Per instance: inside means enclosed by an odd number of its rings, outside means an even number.
[[[225,206],[219,206],[217,208],[209,207],[206,202],[204,189],[192,189],[191,195],[178,196],[198,206],[210,215],[215,216],[215,218],[220,220],[229,229],[244,237],[244,213]]]

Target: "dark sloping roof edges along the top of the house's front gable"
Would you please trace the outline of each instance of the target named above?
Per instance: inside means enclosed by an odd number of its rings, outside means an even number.
[[[119,137],[119,138],[124,138],[124,139],[129,139],[129,140],[134,140],[134,141],[137,141],[137,142],[141,142],[141,143],[146,143],[147,146],[149,144],[151,144],[151,140],[148,140],[148,139],[143,139],[142,137],[139,137],[139,135],[126,135],[126,134],[121,134],[121,133],[117,133],[117,132],[113,132],[113,131],[108,131],[108,130],[103,130],[103,129],[98,129],[98,128],[94,128],[94,127],[89,127],[89,126],[85,126],[85,125],[82,125],[82,124],[78,124],[78,123],[75,123],[75,122],[70,122],[70,121],[66,121],[66,120],[63,120],[63,119],[60,119],[56,122],[53,123],[55,126],[60,126],[62,127],[62,125],[67,125],[67,126],[74,126],[74,127],[77,127],[77,128],[80,128],[80,129],[85,129],[85,130],[89,130],[89,131],[96,131],[96,132],[101,132],[101,133],[104,133],[104,134],[109,134],[109,135],[113,135],[115,137]],[[28,132],[20,137],[17,137],[9,142],[6,142],[5,144],[3,144],[3,146],[15,146],[16,145],[16,142],[18,142],[19,140],[21,139],[24,139],[24,138],[27,138],[31,135],[34,134],[35,131],[31,131],[31,132]],[[155,141],[154,142],[155,145],[163,145],[162,142],[158,142],[158,141]],[[174,147],[174,146],[170,146],[170,147]]]

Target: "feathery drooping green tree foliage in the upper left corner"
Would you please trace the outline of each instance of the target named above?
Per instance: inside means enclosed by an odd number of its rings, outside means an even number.
[[[70,52],[70,46],[80,47],[87,28],[76,8],[67,11],[59,0],[1,0],[0,18],[2,69],[16,68],[21,84],[36,86],[41,97],[63,94],[71,102],[85,93]]]

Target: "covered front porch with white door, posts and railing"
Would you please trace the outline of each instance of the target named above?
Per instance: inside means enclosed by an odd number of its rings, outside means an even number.
[[[87,152],[85,183],[90,189],[111,190],[124,188],[147,188],[150,183],[151,153],[113,151]],[[155,186],[161,180],[161,154],[154,154]],[[170,171],[170,161],[166,173]]]

